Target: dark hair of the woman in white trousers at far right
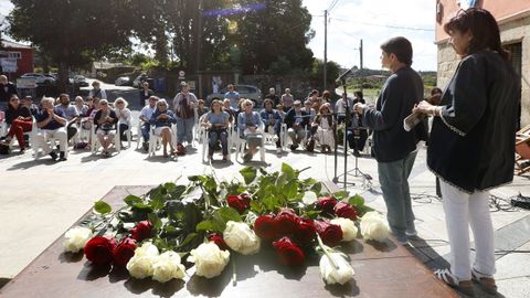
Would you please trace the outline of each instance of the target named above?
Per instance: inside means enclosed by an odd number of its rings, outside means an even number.
[[[502,58],[508,60],[509,53],[502,49],[500,43],[499,26],[494,15],[489,11],[479,8],[460,10],[446,24],[444,31],[451,35],[451,32],[458,31],[466,33],[470,31],[473,38],[466,54],[470,55],[484,50],[498,52]]]

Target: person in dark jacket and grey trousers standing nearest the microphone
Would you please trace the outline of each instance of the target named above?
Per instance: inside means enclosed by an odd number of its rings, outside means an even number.
[[[386,204],[390,228],[401,243],[415,236],[414,213],[409,192],[409,174],[416,158],[417,138],[403,129],[403,119],[423,98],[423,82],[411,68],[412,45],[405,38],[393,38],[381,45],[381,63],[392,75],[378,98],[377,108],[356,104],[363,125],[373,130],[373,150]]]

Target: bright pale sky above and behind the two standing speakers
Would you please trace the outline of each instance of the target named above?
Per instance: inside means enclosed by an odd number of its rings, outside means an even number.
[[[363,66],[380,70],[380,45],[393,36],[407,38],[413,46],[412,67],[436,70],[434,44],[435,1],[433,0],[303,0],[312,15],[316,31],[309,47],[324,60],[324,11],[329,12],[328,61],[344,68],[360,65],[359,44],[363,40]],[[10,0],[0,0],[0,22],[12,9]]]

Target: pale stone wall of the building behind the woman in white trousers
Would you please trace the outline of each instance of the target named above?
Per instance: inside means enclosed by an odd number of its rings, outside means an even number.
[[[500,25],[502,44],[521,43],[521,126],[530,124],[530,17],[502,23]],[[455,73],[459,58],[444,41],[438,43],[438,87],[445,88]]]

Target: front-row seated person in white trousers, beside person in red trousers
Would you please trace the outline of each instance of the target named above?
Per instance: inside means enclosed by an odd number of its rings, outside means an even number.
[[[60,161],[66,160],[67,150],[67,132],[66,132],[66,116],[60,108],[54,108],[53,104],[55,99],[52,97],[43,97],[41,99],[41,110],[35,116],[36,127],[41,129],[34,137],[34,143],[36,148],[42,148],[44,153],[50,155],[53,160],[57,159],[55,153],[47,143],[47,139],[54,138],[59,140]],[[36,155],[36,152],[35,152]]]

